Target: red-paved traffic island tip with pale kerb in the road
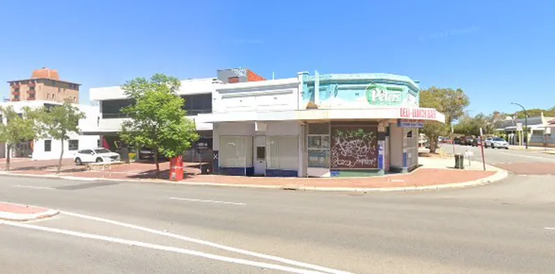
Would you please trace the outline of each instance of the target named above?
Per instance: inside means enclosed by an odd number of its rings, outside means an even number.
[[[0,220],[4,221],[32,221],[49,218],[56,214],[58,211],[53,209],[0,202]]]

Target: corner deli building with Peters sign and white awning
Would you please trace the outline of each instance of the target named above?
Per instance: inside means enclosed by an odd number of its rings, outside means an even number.
[[[329,74],[216,84],[213,170],[222,175],[352,177],[418,166],[418,83],[391,74]]]

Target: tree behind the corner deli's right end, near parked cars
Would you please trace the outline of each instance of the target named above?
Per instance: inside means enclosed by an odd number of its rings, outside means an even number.
[[[470,101],[462,89],[430,87],[420,91],[420,107],[435,108],[445,114],[445,124],[426,123],[422,128],[429,139],[429,151],[436,153],[438,137],[447,135],[453,120],[463,117]]]

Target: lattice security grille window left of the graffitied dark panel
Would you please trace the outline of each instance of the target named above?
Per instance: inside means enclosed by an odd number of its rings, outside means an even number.
[[[330,123],[309,123],[308,167],[330,168]]]

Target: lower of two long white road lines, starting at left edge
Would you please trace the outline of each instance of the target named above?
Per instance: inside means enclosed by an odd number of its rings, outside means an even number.
[[[234,264],[244,264],[246,266],[269,268],[269,269],[275,269],[275,270],[278,270],[278,271],[287,271],[287,272],[290,272],[290,273],[302,273],[302,274],[305,274],[305,273],[307,273],[307,274],[322,273],[322,272],[318,272],[318,271],[309,271],[309,270],[300,269],[300,268],[292,268],[292,267],[289,267],[289,266],[280,266],[278,264],[268,264],[268,263],[263,263],[263,262],[249,261],[249,260],[246,260],[246,259],[237,259],[237,258],[232,258],[232,257],[224,257],[224,256],[210,254],[210,253],[205,253],[205,252],[200,252],[200,251],[195,251],[195,250],[189,250],[189,249],[185,249],[185,248],[176,248],[176,247],[173,247],[173,246],[161,246],[161,245],[157,245],[157,244],[154,244],[154,243],[144,243],[142,241],[132,241],[132,240],[126,240],[126,239],[121,239],[121,238],[116,238],[116,237],[106,237],[106,236],[102,236],[102,235],[89,234],[89,233],[77,232],[77,231],[72,231],[72,230],[62,230],[62,229],[58,229],[58,228],[46,228],[46,227],[40,226],[40,225],[29,225],[29,224],[26,224],[26,223],[13,223],[13,222],[9,222],[9,221],[0,221],[0,223],[4,224],[4,225],[11,225],[11,226],[19,227],[19,228],[28,228],[28,229],[33,229],[33,230],[41,230],[41,231],[46,231],[46,232],[65,234],[65,235],[70,235],[70,236],[75,236],[75,237],[80,237],[80,238],[85,238],[85,239],[96,239],[96,240],[101,240],[101,241],[109,241],[109,242],[112,242],[112,243],[121,243],[121,244],[131,245],[131,246],[140,246],[140,247],[143,247],[143,248],[151,248],[151,249],[155,249],[155,250],[164,250],[164,251],[169,251],[169,252],[176,252],[176,253],[181,253],[181,254],[198,256],[198,257],[205,257],[205,258],[208,258],[208,259],[216,259],[216,260],[222,261],[222,262],[230,262],[230,263],[234,263]]]

